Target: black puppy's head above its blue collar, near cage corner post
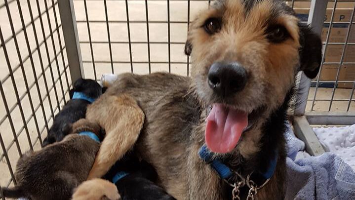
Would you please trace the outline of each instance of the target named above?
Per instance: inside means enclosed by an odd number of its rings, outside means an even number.
[[[69,92],[70,98],[73,97],[74,92],[82,92],[91,98],[98,98],[103,93],[103,89],[95,80],[78,79]]]

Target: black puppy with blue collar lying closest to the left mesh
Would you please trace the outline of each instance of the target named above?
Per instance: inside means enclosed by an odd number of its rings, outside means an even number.
[[[95,81],[79,79],[75,81],[74,88],[69,91],[70,99],[63,109],[55,116],[48,136],[43,140],[43,146],[62,141],[68,134],[65,130],[72,124],[85,118],[86,107],[103,93],[103,88]]]

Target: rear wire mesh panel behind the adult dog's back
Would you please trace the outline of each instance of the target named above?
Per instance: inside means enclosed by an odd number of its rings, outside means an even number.
[[[291,6],[298,2],[287,1]],[[189,75],[190,60],[183,49],[191,16],[210,3],[74,0],[85,77],[156,71]]]

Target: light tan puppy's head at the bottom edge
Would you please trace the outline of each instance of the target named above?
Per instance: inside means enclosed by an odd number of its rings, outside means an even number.
[[[121,197],[113,183],[96,178],[81,183],[72,200],[121,200]]]

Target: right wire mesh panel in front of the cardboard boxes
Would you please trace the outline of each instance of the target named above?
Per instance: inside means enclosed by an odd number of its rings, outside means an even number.
[[[320,76],[312,81],[309,111],[355,111],[355,2],[348,1],[347,8],[342,3],[328,3],[322,34],[322,66]]]

